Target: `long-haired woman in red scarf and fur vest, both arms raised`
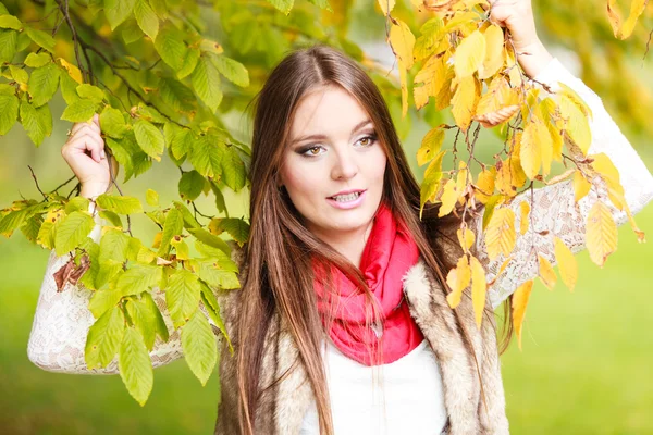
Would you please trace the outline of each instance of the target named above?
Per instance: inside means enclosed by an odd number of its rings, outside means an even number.
[[[492,18],[527,53],[519,62],[529,77],[554,89],[563,82],[590,105],[589,153],[613,159],[631,211],[641,210],[653,197],[653,176],[600,98],[541,45],[530,1],[495,2]],[[96,119],[76,124],[62,149],[85,197],[109,186],[102,147]],[[533,245],[553,260],[551,239],[532,232],[519,238],[480,331],[469,295],[452,310],[444,277],[459,257],[459,222],[436,219],[436,207],[419,220],[419,186],[379,90],[325,47],[286,57],[259,94],[250,178],[250,238],[234,249],[243,288],[220,300],[236,351],[221,353],[217,434],[508,433],[493,310],[537,274],[526,261]],[[539,189],[531,227],[578,251],[595,198],[576,204],[569,183]],[[492,277],[502,259],[484,253],[480,216],[482,210],[469,221],[479,236],[475,254]],[[51,274],[59,265],[52,253],[30,360],[51,371],[115,373],[115,363],[86,369],[88,291],[57,293]],[[74,321],[61,326],[61,312]],[[176,333],[151,352],[155,366],[181,356]]]

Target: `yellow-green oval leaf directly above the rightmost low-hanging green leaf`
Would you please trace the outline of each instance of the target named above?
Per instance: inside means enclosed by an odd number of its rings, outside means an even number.
[[[199,293],[197,275],[181,269],[170,277],[165,288],[165,302],[175,328],[183,326],[197,311]]]

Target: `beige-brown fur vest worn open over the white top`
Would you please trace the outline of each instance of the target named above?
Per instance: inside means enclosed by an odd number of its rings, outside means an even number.
[[[235,260],[242,264],[238,256],[239,252]],[[464,344],[444,291],[421,259],[408,270],[403,285],[410,313],[440,363],[448,415],[446,433],[508,434],[494,315],[485,315],[479,331],[469,294],[463,295],[463,300],[456,308],[463,319],[463,327],[471,339],[476,353],[475,363],[475,356],[468,352]],[[234,346],[238,346],[238,338],[234,335],[234,322],[239,311],[238,298],[239,291],[234,290],[220,300],[223,320]],[[489,302],[486,303],[489,307]],[[221,400],[215,435],[237,435],[236,358],[235,355],[230,355],[224,345],[222,350]],[[479,375],[482,377],[482,386]],[[260,383],[268,386],[280,378],[280,382],[260,396],[255,422],[257,435],[298,434],[304,414],[313,399],[294,338],[281,316],[275,313],[266,337]]]

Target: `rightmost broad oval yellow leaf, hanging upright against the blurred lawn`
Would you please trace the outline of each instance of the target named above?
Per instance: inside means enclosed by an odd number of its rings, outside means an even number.
[[[617,249],[617,224],[608,207],[601,201],[596,201],[588,214],[586,240],[590,259],[601,268]]]

